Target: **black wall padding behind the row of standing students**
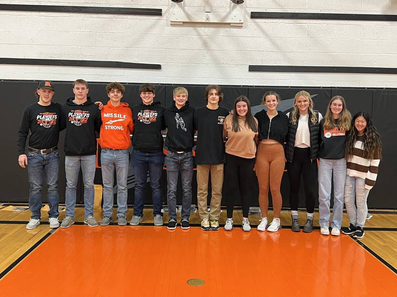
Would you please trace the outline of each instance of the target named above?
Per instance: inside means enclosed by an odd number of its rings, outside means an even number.
[[[89,96],[94,100],[107,102],[108,98],[105,92],[106,83],[89,84]],[[177,85],[155,85],[155,100],[159,100],[162,104],[169,107],[172,104],[172,91]],[[206,85],[182,85],[189,91],[189,101],[194,107],[205,105],[204,90]],[[36,81],[0,81],[0,87],[3,90],[2,107],[3,119],[0,134],[2,169],[0,172],[1,188],[0,202],[27,202],[28,201],[28,181],[26,169],[19,167],[17,163],[16,149],[16,133],[19,128],[20,118],[25,106],[36,102],[34,91],[37,87]],[[55,82],[54,101],[65,103],[68,97],[72,97],[71,82]],[[378,128],[383,141],[383,160],[379,167],[378,180],[375,187],[371,190],[368,197],[368,206],[371,208],[397,208],[397,200],[395,192],[390,186],[397,180],[397,90],[376,90],[376,89],[359,89],[359,88],[290,88],[290,87],[248,87],[248,86],[222,86],[224,92],[224,101],[222,106],[232,109],[234,100],[240,96],[248,96],[255,108],[261,108],[262,96],[267,91],[276,91],[281,96],[280,105],[283,109],[292,106],[293,98],[298,91],[308,91],[315,103],[315,108],[325,114],[328,102],[332,96],[341,95],[346,99],[349,110],[354,114],[359,110],[365,110],[372,114],[374,124]],[[123,100],[134,105],[140,102],[139,84],[126,84],[126,93]],[[64,133],[61,134],[59,148],[61,154],[60,162],[60,201],[65,201],[65,166],[64,166]],[[100,160],[99,160],[100,161]],[[97,169],[95,178],[96,183],[100,183],[100,169]],[[253,189],[251,193],[252,205],[258,205],[258,185],[257,181],[253,181]],[[303,185],[302,185],[303,186]],[[194,197],[193,201],[197,201],[196,183],[193,183]],[[302,187],[303,188],[303,187]],[[81,183],[78,185],[77,202],[82,201]],[[151,203],[150,187],[145,190],[145,203]],[[180,189],[178,190],[180,192]],[[166,202],[166,181],[165,174],[163,176],[163,196]],[[282,180],[281,194],[283,197],[283,206],[287,207],[289,193],[288,176],[285,173]],[[209,195],[210,196],[210,195]],[[178,201],[181,198],[178,198]],[[46,201],[45,195],[43,200]],[[128,202],[133,202],[133,189],[129,189]],[[271,203],[271,201],[270,201]],[[225,204],[225,197],[222,199]],[[236,200],[236,204],[240,201]],[[299,194],[299,205],[304,206],[303,189]]]

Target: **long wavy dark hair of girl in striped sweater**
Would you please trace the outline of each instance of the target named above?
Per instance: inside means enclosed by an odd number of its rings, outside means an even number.
[[[371,116],[365,111],[359,111],[351,120],[351,129],[349,132],[349,136],[346,141],[346,156],[351,156],[354,154],[354,143],[357,141],[358,131],[354,122],[356,118],[362,116],[366,122],[367,126],[364,131],[364,155],[362,156],[365,159],[380,159],[382,158],[382,142],[381,137],[378,133],[378,130],[372,124]]]

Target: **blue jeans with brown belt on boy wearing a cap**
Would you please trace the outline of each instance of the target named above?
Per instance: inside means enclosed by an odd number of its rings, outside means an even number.
[[[57,218],[59,216],[59,152],[58,150],[48,154],[29,152],[27,157],[29,209],[32,212],[32,219],[40,219],[41,216],[41,189],[43,188],[43,177],[47,182],[47,201],[50,206],[48,216],[50,218]]]

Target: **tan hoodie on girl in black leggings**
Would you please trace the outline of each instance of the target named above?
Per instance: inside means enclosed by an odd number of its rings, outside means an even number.
[[[253,132],[248,126],[245,126],[245,118],[239,117],[240,131],[232,130],[233,114],[229,114],[223,125],[223,136],[228,137],[225,148],[228,154],[239,156],[242,158],[255,158],[257,152],[256,141],[258,132]],[[258,126],[258,121],[254,118]]]

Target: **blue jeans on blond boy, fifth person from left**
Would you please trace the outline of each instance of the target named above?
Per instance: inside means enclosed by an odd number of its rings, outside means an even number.
[[[189,221],[190,207],[192,205],[193,153],[191,151],[183,153],[168,151],[165,164],[167,166],[167,204],[169,218],[177,219],[177,186],[179,171],[181,171],[182,220]]]

